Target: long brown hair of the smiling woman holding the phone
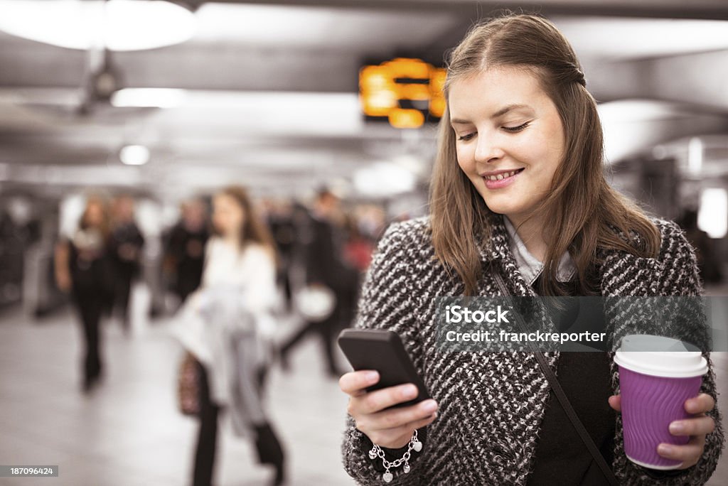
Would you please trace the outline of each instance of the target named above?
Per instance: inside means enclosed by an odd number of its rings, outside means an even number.
[[[654,257],[660,250],[660,233],[636,204],[606,182],[596,101],[586,89],[569,41],[549,20],[504,15],[471,28],[448,60],[446,99],[456,79],[505,65],[534,73],[561,117],[566,140],[563,160],[537,210],[549,218],[539,293],[564,294],[555,275],[561,255],[568,251],[577,267],[579,292],[596,294],[598,248]],[[475,294],[482,272],[476,238],[488,240],[494,213],[460,170],[447,108],[440,120],[430,214],[435,257],[460,276],[465,295]]]

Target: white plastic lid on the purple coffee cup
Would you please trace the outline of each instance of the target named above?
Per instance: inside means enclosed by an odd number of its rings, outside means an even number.
[[[665,336],[633,334],[622,339],[614,362],[644,375],[687,378],[708,372],[708,362],[690,343]]]

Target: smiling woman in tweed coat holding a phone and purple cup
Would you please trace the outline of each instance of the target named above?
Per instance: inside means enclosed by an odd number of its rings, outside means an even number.
[[[445,93],[430,217],[387,230],[357,319],[400,335],[433,399],[384,410],[414,397],[414,386],[367,392],[376,372],[342,376],[344,466],[365,485],[609,484],[549,400],[534,354],[441,351],[435,297],[700,295],[694,252],[678,226],[646,217],[606,183],[595,100],[548,20],[509,15],[472,28],[451,53]],[[605,316],[619,343],[623,323]],[[611,352],[547,360],[621,484],[700,485],[724,442],[705,356],[701,393],[684,405],[694,418],[670,427],[689,443],[658,449],[683,461],[668,472],[625,457]],[[414,437],[424,447],[408,453]],[[408,454],[411,470],[400,461],[384,477],[373,444],[387,461]]]

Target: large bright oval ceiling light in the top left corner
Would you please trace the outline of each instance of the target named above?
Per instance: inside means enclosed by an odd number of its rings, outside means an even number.
[[[0,0],[0,30],[68,49],[154,49],[191,38],[195,17],[162,0]]]

